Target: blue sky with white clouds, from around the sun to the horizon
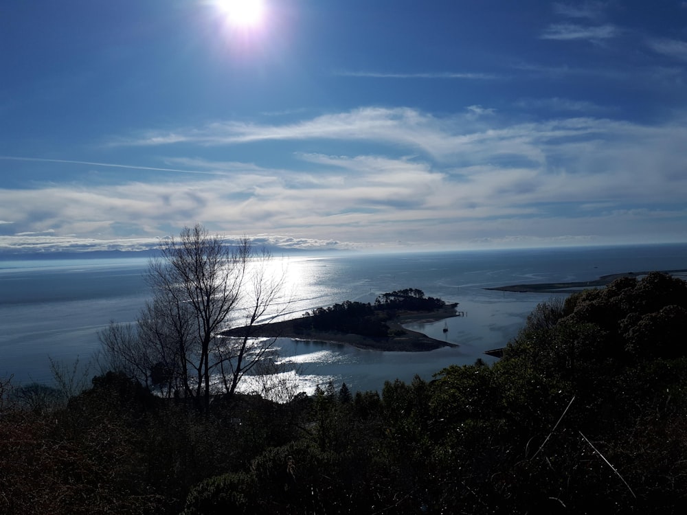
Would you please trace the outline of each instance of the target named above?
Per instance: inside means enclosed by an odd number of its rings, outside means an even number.
[[[687,2],[229,7],[0,5],[0,250],[687,241]]]

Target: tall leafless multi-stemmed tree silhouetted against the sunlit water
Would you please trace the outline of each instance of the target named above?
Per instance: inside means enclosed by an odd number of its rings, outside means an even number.
[[[275,270],[271,254],[247,238],[230,249],[195,225],[161,245],[146,279],[153,299],[135,331],[111,325],[100,333],[111,361],[149,387],[192,397],[205,409],[214,391],[233,396],[273,343],[253,338],[254,328],[278,314],[284,270]],[[222,336],[232,327],[242,328],[240,338]]]

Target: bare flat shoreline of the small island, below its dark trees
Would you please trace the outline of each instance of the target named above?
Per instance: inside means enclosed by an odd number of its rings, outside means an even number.
[[[291,338],[304,341],[324,341],[343,343],[363,350],[383,350],[397,352],[424,352],[441,347],[458,347],[455,343],[430,338],[421,332],[403,327],[404,323],[436,322],[457,315],[455,306],[447,304],[441,310],[399,312],[396,319],[388,321],[391,330],[402,330],[399,336],[379,338],[364,336],[363,334],[343,333],[337,331],[316,331],[295,328],[294,320],[284,320],[273,323],[263,323],[251,329],[251,337]],[[306,318],[306,317],[304,317]],[[235,328],[223,332],[224,336],[243,336],[246,328]]]

